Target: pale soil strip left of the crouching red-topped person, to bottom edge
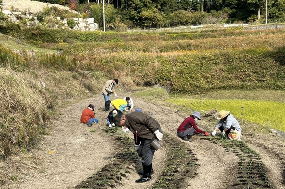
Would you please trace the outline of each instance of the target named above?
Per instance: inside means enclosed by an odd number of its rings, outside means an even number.
[[[136,99],[135,103],[137,108],[143,108],[144,112],[149,112],[158,120],[162,131],[167,131],[173,137],[177,137],[177,127],[184,117],[175,113],[176,110],[158,104],[145,103],[141,99]],[[207,128],[201,127],[201,129]],[[225,152],[223,147],[207,140],[200,140],[201,138],[204,136],[194,136],[192,142],[183,141],[196,154],[197,163],[201,165],[198,166],[198,175],[194,179],[189,179],[188,188],[221,188],[226,184],[221,182],[221,178],[231,169],[231,165],[236,166],[237,158],[233,153]]]

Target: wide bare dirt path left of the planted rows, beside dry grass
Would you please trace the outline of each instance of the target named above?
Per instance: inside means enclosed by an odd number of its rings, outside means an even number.
[[[98,95],[64,109],[63,115],[50,123],[50,135],[45,135],[43,144],[34,150],[44,158],[39,171],[4,188],[71,188],[106,164],[115,154],[115,146],[99,129],[105,127],[105,119],[99,119],[100,122],[92,127],[79,123],[82,110],[90,103],[95,104],[96,117],[106,117],[106,112],[98,110],[103,107],[100,97],[103,98]],[[96,132],[92,133],[90,129]],[[54,151],[52,155],[49,154],[51,150]]]

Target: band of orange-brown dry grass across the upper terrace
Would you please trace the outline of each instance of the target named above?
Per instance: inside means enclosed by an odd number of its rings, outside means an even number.
[[[229,50],[263,48],[274,50],[284,46],[285,34],[269,34],[258,36],[231,36],[226,38],[206,38],[178,41],[125,41],[117,43],[76,43],[67,45],[64,51],[73,53],[92,53],[104,55],[117,52],[143,52],[143,53],[166,53],[166,52],[189,52],[201,50]]]

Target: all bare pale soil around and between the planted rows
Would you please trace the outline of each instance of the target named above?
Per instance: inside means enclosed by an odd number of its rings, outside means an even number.
[[[162,131],[170,133],[170,136],[176,138],[178,143],[185,144],[185,148],[193,152],[196,157],[196,173],[195,176],[184,178],[184,188],[243,188],[245,185],[238,185],[238,174],[244,174],[239,171],[241,168],[241,157],[246,152],[243,149],[227,149],[219,142],[204,140],[208,137],[204,135],[195,135],[192,141],[182,141],[176,136],[177,127],[190,115],[181,113],[172,107],[162,106],[159,102],[146,102],[145,99],[136,98],[133,93],[119,93],[120,98],[126,95],[133,98],[135,108],[142,108],[143,112],[154,117],[160,123]],[[114,97],[111,96],[111,99]],[[90,103],[95,104],[95,116],[99,118],[99,123],[92,127],[80,124],[80,116],[82,110]],[[73,188],[86,180],[91,175],[98,173],[104,166],[113,162],[122,148],[117,147],[119,141],[115,141],[112,137],[107,137],[103,129],[106,128],[107,112],[103,111],[104,100],[102,95],[95,98],[83,100],[79,103],[72,104],[68,108],[62,110],[62,116],[58,120],[50,123],[52,131],[50,135],[44,137],[43,143],[38,149],[32,151],[44,159],[44,162],[37,165],[36,172],[23,177],[12,183],[6,183],[4,188]],[[199,127],[205,131],[211,131],[214,125],[208,125],[201,121]],[[89,129],[94,129],[95,133]],[[132,138],[131,135],[129,135]],[[246,154],[245,162],[248,163],[252,158],[260,162],[260,166],[269,177],[269,181],[275,188],[284,189],[284,149],[281,147],[283,142],[277,140],[274,136],[267,136],[270,140],[264,138],[255,138],[256,141],[248,140],[247,144],[256,153]],[[213,137],[212,137],[213,138]],[[254,143],[254,144],[253,144]],[[272,144],[277,147],[272,147]],[[163,144],[165,145],[165,144]],[[49,151],[53,150],[52,155]],[[274,152],[274,153],[273,153]],[[162,170],[168,162],[164,148],[155,152],[153,160],[154,175],[151,182],[143,184],[135,183],[140,178],[137,171],[141,169],[140,162],[129,163],[129,170],[123,175],[122,179],[113,188],[150,188],[157,183]],[[260,159],[258,159],[258,157]],[[123,168],[122,168],[123,169]],[[181,168],[183,169],[183,168]],[[247,170],[244,170],[247,171]],[[250,173],[251,174],[251,173]],[[257,173],[248,175],[249,179],[265,178]],[[236,184],[236,185],[234,185]],[[259,188],[266,188],[265,185],[257,185]]]

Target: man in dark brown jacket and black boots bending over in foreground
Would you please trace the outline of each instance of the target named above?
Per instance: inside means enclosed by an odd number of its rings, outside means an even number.
[[[146,182],[151,180],[152,158],[155,149],[150,145],[152,141],[162,140],[161,127],[152,117],[142,112],[131,112],[129,114],[117,114],[114,117],[114,123],[117,126],[126,126],[134,133],[135,143],[138,138],[141,139],[139,145],[139,156],[142,158],[143,177],[136,182]],[[135,145],[136,149],[136,145]]]

